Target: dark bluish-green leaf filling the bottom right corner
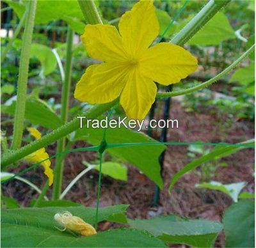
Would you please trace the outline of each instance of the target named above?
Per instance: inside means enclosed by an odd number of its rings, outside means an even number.
[[[225,212],[223,224],[226,247],[254,247],[255,204],[243,200],[231,205]]]

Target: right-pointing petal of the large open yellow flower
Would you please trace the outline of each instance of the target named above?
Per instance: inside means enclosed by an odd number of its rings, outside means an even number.
[[[197,60],[190,52],[167,42],[150,47],[140,63],[141,74],[164,85],[180,82],[197,68]]]

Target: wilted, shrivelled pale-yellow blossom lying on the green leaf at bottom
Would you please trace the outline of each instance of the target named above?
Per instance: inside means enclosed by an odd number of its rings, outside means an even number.
[[[55,221],[58,221],[58,223],[64,227],[64,230],[70,229],[72,231],[76,231],[77,233],[80,233],[84,236],[90,236],[97,231],[93,228],[92,225],[84,222],[81,218],[77,216],[73,216],[72,213],[65,211],[63,213],[56,213],[54,215]]]

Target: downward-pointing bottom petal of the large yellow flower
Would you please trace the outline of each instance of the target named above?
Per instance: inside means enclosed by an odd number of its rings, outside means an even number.
[[[137,70],[133,70],[120,97],[120,104],[124,107],[129,119],[142,120],[156,98],[156,84],[147,77],[142,77]]]

